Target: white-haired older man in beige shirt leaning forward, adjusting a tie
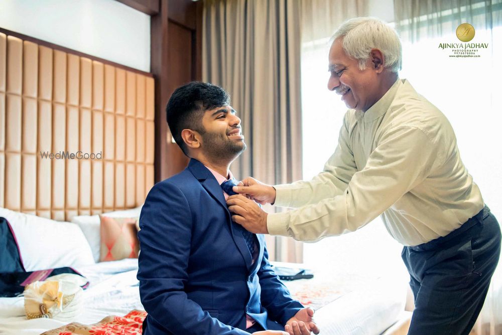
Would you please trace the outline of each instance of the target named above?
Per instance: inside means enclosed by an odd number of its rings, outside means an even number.
[[[463,165],[453,129],[399,79],[401,43],[380,20],[335,33],[328,89],[350,108],[338,146],[310,181],[265,185],[249,177],[227,201],[248,231],[316,241],[381,215],[405,247],[415,295],[409,334],[465,334],[483,305],[500,254],[500,227]],[[254,201],[296,208],[267,214]]]

